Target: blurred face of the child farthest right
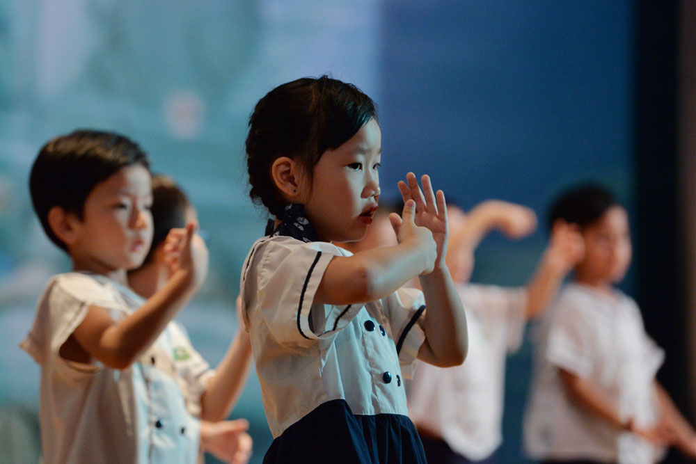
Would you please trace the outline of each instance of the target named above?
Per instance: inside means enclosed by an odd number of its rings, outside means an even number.
[[[576,276],[600,285],[624,278],[631,263],[628,214],[618,205],[610,207],[599,221],[585,226],[585,257],[576,266]]]

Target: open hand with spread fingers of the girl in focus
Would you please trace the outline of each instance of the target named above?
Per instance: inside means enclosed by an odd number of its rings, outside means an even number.
[[[414,222],[420,227],[426,227],[432,232],[437,246],[435,268],[445,266],[447,254],[447,238],[449,234],[447,223],[447,207],[445,206],[445,193],[438,190],[433,192],[430,176],[425,174],[420,178],[423,185],[422,191],[418,186],[418,180],[413,173],[406,174],[406,182],[399,181],[399,191],[404,203],[409,199],[416,202],[416,214]]]

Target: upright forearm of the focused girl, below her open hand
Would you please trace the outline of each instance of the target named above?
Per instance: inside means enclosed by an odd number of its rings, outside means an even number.
[[[425,343],[418,358],[429,364],[460,365],[468,351],[466,314],[447,266],[420,275],[425,296]]]

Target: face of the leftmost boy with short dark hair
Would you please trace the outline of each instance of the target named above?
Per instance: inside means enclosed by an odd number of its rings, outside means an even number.
[[[97,184],[85,200],[83,218],[72,215],[68,245],[78,271],[106,274],[134,269],[152,241],[150,172],[126,166]]]

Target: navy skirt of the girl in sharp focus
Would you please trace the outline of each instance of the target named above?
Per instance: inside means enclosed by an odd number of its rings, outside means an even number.
[[[342,399],[328,401],[273,440],[264,464],[425,464],[416,427],[405,415],[354,415]]]

